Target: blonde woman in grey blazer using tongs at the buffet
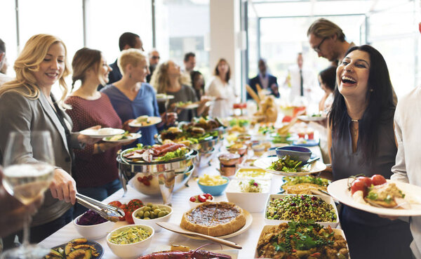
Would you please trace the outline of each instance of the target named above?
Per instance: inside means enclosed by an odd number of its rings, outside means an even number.
[[[58,166],[51,192],[45,193],[44,204],[32,221],[31,242],[37,243],[72,220],[71,208],[76,200],[76,184],[71,175],[72,148],[81,148],[81,143],[92,144],[94,140],[71,132],[72,120],[63,111],[67,106],[60,105],[51,94],[57,81],[64,89],[60,102],[67,93],[64,77],[70,70],[66,46],[60,39],[48,34],[32,36],[16,59],[14,69],[16,79],[0,88],[0,159],[12,131],[49,131]]]

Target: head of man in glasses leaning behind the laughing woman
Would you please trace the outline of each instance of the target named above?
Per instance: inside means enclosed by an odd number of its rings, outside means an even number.
[[[326,58],[335,66],[345,57],[348,48],[355,46],[353,42],[345,40],[345,34],[338,25],[324,18],[310,25],[307,36],[310,46],[319,57]]]

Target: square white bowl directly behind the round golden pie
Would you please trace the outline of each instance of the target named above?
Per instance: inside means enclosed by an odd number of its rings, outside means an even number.
[[[262,185],[262,192],[241,192],[239,183],[250,179],[234,179],[229,182],[225,194],[227,199],[250,213],[258,213],[265,209],[267,197],[270,192],[270,180],[255,180]]]

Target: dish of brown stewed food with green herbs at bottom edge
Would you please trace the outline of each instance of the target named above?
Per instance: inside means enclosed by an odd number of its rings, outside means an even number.
[[[265,225],[254,258],[347,259],[349,248],[342,230],[290,222]]]

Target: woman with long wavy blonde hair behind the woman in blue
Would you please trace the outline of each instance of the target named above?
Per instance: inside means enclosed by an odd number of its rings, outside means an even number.
[[[174,110],[178,102],[197,102],[196,93],[191,86],[187,86],[182,80],[180,66],[172,60],[162,63],[152,75],[151,84],[158,93],[173,95],[174,98],[168,102],[168,110]],[[194,117],[200,116],[206,108],[208,99],[202,98],[197,109],[178,110],[179,121],[191,121]]]

